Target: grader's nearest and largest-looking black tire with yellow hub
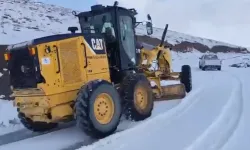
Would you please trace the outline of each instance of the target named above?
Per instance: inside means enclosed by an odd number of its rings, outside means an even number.
[[[109,99],[100,100],[101,95]],[[95,80],[80,89],[75,103],[76,123],[90,137],[104,138],[114,133],[121,114],[121,98],[111,83]]]

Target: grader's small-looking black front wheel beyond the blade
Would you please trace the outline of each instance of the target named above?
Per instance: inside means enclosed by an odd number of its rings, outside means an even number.
[[[192,74],[189,65],[183,65],[181,67],[180,82],[185,85],[187,93],[189,93],[192,90]]]

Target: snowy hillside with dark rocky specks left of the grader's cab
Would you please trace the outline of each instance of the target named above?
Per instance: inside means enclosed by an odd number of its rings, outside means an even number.
[[[29,0],[0,0],[0,4],[0,44],[67,32],[68,26],[77,24],[70,9]]]

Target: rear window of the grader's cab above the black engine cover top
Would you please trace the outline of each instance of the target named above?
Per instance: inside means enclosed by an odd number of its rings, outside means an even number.
[[[104,23],[112,20],[111,14],[108,12],[95,16],[83,16],[79,18],[79,21],[83,33],[101,33]]]

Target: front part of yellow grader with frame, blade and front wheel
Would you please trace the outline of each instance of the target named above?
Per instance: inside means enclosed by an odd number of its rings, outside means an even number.
[[[148,23],[147,23],[148,26]],[[183,65],[181,72],[172,71],[171,48],[164,45],[168,24],[162,34],[161,42],[153,49],[139,49],[139,71],[144,73],[149,81],[153,82],[153,93],[156,100],[170,100],[184,98],[186,92],[192,90],[192,76],[189,65]],[[180,81],[178,84],[168,84],[169,81]],[[165,81],[168,85],[161,85]]]

